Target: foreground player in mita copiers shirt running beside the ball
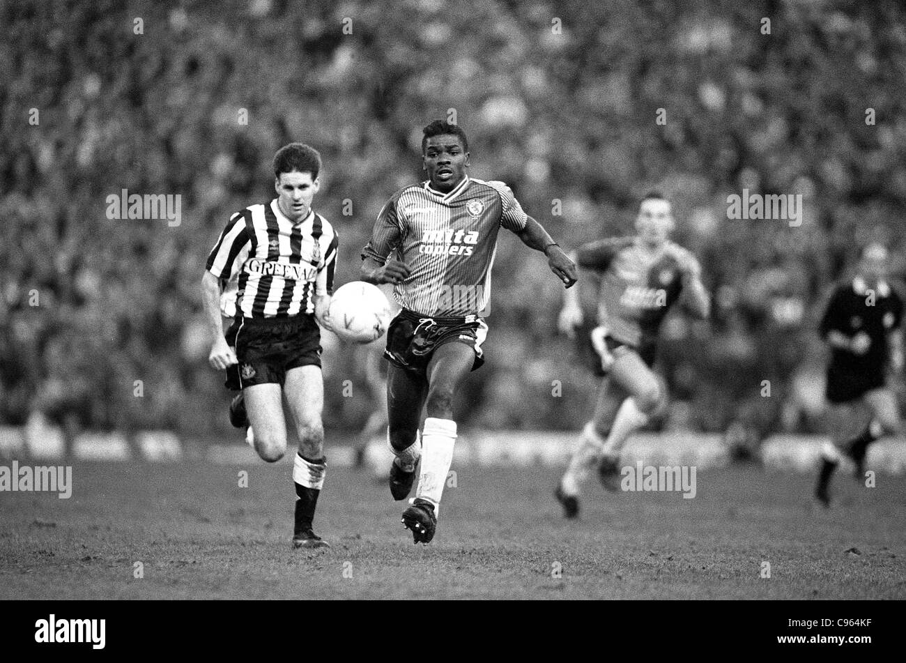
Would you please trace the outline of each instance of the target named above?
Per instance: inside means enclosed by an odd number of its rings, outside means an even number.
[[[390,493],[406,498],[419,485],[402,523],[414,543],[434,537],[457,424],[453,399],[484,361],[491,267],[501,226],[542,251],[568,288],[573,261],[519,205],[503,182],[470,178],[468,141],[458,125],[434,120],[423,130],[428,180],[403,187],[381,209],[362,253],[361,278],[394,283],[402,310],[387,330],[388,440],[396,456]],[[421,425],[422,409],[427,418]],[[420,429],[420,430],[419,430]]]

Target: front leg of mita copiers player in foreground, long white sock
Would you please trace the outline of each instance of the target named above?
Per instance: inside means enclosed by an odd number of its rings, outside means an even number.
[[[414,543],[429,543],[434,538],[457,437],[453,398],[474,361],[475,351],[470,346],[448,342],[434,351],[428,364],[428,417],[421,438],[419,487],[412,505],[402,514],[402,523],[412,531]]]

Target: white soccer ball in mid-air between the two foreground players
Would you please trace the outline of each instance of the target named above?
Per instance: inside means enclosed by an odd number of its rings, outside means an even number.
[[[387,331],[390,303],[377,285],[364,281],[346,283],[333,293],[327,317],[343,341],[370,343]]]

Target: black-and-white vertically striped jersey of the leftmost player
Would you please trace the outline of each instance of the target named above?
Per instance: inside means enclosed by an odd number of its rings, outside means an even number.
[[[314,295],[331,294],[337,235],[310,211],[294,224],[277,199],[251,205],[230,217],[207,256],[218,279],[238,274],[236,308],[246,318],[314,312]]]

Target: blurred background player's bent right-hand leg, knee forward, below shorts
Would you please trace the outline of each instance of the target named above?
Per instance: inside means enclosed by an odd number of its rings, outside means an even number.
[[[611,367],[611,379],[629,397],[624,399],[613,419],[611,431],[602,446],[598,476],[610,491],[620,487],[620,454],[627,438],[647,425],[666,402],[666,390],[657,374],[636,351],[618,348]]]

